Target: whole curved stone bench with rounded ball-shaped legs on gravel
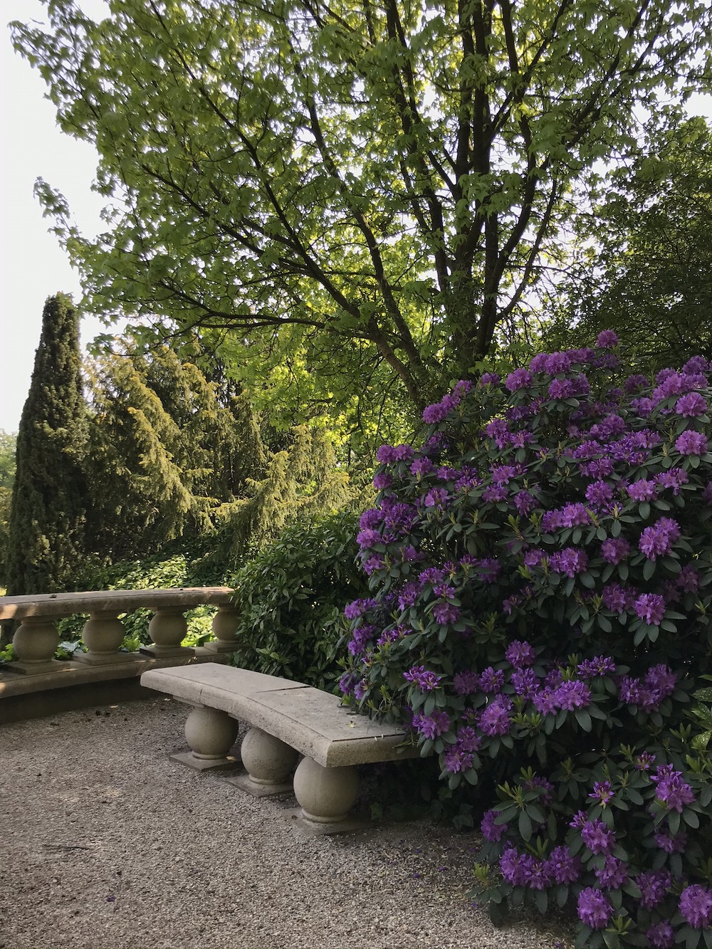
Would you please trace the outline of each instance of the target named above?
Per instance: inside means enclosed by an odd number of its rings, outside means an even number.
[[[200,771],[233,767],[229,752],[237,719],[252,726],[245,735],[242,764],[247,773],[232,779],[255,796],[293,791],[300,822],[317,832],[346,829],[359,789],[357,765],[417,757],[403,747],[402,728],[356,715],[337,696],[248,669],[204,663],[154,669],[141,685],[194,705],[185,724],[190,752],[172,755]]]

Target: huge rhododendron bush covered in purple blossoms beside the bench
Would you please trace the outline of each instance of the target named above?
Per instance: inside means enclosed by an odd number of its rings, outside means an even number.
[[[647,381],[617,344],[460,381],[380,450],[341,688],[492,805],[478,898],[571,903],[580,945],[712,947],[685,724],[712,671],[712,366]]]

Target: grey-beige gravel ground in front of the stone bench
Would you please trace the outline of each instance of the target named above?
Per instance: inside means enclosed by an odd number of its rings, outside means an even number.
[[[553,949],[465,897],[478,838],[426,821],[305,836],[168,760],[170,698],[0,731],[0,949]]]

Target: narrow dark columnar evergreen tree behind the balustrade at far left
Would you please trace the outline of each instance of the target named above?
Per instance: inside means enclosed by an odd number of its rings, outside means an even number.
[[[17,433],[9,513],[9,595],[74,589],[84,553],[87,419],[79,317],[71,298],[49,297],[28,399]]]

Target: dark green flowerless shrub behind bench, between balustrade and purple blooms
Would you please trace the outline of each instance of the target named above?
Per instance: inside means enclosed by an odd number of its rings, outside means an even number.
[[[356,518],[339,512],[284,530],[235,578],[235,665],[335,690],[344,605],[365,593]]]

